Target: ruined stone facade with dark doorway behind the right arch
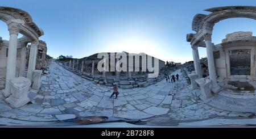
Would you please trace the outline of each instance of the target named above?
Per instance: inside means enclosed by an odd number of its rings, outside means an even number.
[[[221,44],[214,45],[214,63],[219,77],[255,77],[256,37],[252,34],[242,31],[229,33]]]

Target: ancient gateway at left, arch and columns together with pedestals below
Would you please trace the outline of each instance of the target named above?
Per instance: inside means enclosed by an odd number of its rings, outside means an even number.
[[[44,32],[23,10],[0,7],[0,20],[7,24],[10,33],[9,40],[0,37],[0,78],[6,81],[2,92],[7,103],[20,107],[28,101],[30,85],[37,90],[40,87],[40,69],[46,64],[47,47],[39,37]],[[23,35],[20,38],[19,33]]]

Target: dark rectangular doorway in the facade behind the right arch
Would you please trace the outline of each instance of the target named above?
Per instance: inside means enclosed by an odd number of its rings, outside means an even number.
[[[251,50],[229,50],[230,75],[251,74]]]

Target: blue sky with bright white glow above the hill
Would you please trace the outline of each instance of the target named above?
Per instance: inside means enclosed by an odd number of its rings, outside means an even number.
[[[209,14],[218,6],[256,6],[246,0],[0,0],[0,6],[27,11],[44,35],[50,56],[82,58],[99,52],[150,54],[163,61],[193,60],[186,41],[193,16]],[[218,44],[227,33],[252,31],[256,21],[233,18],[216,23],[212,41]],[[0,20],[0,36],[9,40],[7,26]],[[22,35],[19,35],[19,37]],[[199,56],[207,56],[199,48]]]

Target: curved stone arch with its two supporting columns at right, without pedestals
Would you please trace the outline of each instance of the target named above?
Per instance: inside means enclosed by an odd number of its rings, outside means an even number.
[[[198,78],[201,77],[199,67],[199,56],[197,47],[207,48],[208,69],[211,90],[215,93],[220,91],[216,81],[216,69],[213,58],[212,31],[215,23],[228,18],[251,18],[256,19],[255,6],[227,6],[215,7],[205,11],[211,12],[208,15],[196,14],[192,22],[192,30],[196,33],[187,34],[187,41],[191,43],[193,58]]]

